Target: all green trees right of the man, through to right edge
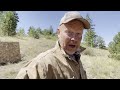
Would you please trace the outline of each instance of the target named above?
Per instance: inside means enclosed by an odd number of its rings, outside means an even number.
[[[120,60],[120,32],[118,32],[118,34],[114,36],[113,41],[111,41],[108,44],[108,48],[106,48],[103,38],[96,34],[94,28],[95,25],[92,24],[92,20],[89,14],[86,15],[86,19],[90,22],[91,28],[88,29],[84,35],[84,44],[88,47],[108,49],[110,52],[110,58]]]

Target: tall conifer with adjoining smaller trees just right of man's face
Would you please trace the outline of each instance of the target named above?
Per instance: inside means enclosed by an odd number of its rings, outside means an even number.
[[[92,20],[89,16],[89,14],[86,15],[86,19],[90,22],[90,29],[87,30],[87,32],[84,35],[84,43],[86,44],[86,46],[89,47],[98,47],[100,49],[106,49],[105,47],[105,41],[103,40],[103,38],[101,36],[96,35],[95,32],[95,28],[92,24]]]

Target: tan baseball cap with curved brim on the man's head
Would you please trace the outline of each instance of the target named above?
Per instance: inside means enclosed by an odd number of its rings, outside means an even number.
[[[62,19],[60,20],[60,24],[63,23],[68,23],[74,19],[80,20],[83,24],[84,24],[84,28],[85,29],[89,29],[90,28],[90,23],[84,19],[79,12],[77,11],[69,11],[67,13],[65,13],[65,15],[62,17]]]

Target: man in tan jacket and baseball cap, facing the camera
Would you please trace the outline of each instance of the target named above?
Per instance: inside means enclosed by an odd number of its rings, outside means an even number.
[[[60,21],[53,49],[26,64],[16,79],[87,79],[80,61],[80,42],[89,22],[79,12],[67,12]]]

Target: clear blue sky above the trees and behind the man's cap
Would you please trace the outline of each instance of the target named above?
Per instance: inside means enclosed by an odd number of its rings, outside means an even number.
[[[27,33],[30,26],[41,29],[49,28],[52,25],[57,30],[59,21],[67,11],[17,11],[19,22],[17,29],[24,28]],[[106,45],[113,40],[113,37],[120,32],[120,11],[79,11],[83,17],[89,13],[95,24],[95,32],[103,37]]]

